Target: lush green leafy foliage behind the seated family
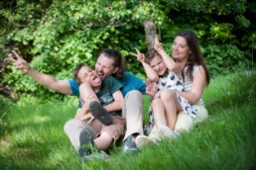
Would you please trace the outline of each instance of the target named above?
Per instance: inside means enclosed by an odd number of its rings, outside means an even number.
[[[248,59],[256,48],[255,5],[244,0],[10,0],[0,2],[0,47],[15,45],[33,67],[57,78],[70,77],[80,62],[93,67],[98,49],[116,48],[128,70],[145,77],[129,52],[135,46],[146,52],[143,23],[152,20],[170,53],[179,31],[195,31],[215,76],[252,66]],[[9,69],[11,74],[0,76],[0,86],[8,84],[16,93],[56,95]]]

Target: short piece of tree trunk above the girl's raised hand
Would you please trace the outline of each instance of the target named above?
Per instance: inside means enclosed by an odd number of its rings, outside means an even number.
[[[148,49],[154,46],[155,36],[156,36],[156,27],[153,21],[144,22],[145,38]]]

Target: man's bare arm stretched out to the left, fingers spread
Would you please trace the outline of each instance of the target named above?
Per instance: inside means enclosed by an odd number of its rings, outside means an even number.
[[[53,76],[41,73],[36,69],[32,68],[30,64],[25,59],[23,59],[15,50],[12,50],[12,53],[17,57],[17,59],[13,58],[12,56],[8,56],[5,60],[13,62],[13,65],[16,66],[16,68],[18,68],[22,72],[27,73],[38,83],[49,89],[55,90],[63,94],[71,94],[70,85],[67,80],[58,80]]]

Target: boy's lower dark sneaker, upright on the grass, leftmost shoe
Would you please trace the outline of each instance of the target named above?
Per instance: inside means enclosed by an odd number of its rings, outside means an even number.
[[[91,148],[93,148],[93,133],[92,131],[85,127],[81,130],[79,135],[80,146],[78,149],[79,155],[82,157],[84,155],[89,155],[91,153]]]

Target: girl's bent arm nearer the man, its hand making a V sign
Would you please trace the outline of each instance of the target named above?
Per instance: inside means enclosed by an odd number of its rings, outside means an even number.
[[[156,71],[153,70],[153,68],[145,62],[145,55],[139,51],[137,47],[135,47],[137,53],[130,52],[131,55],[136,56],[137,60],[140,61],[143,65],[143,68],[145,70],[145,73],[148,77],[148,80],[151,82],[157,82],[159,77]]]

